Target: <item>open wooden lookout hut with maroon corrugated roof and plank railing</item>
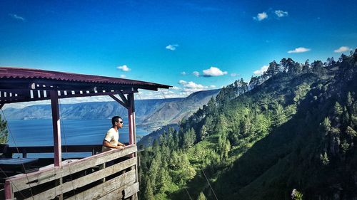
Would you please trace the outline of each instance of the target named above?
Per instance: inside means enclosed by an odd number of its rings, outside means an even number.
[[[139,89],[157,91],[171,87],[98,75],[1,67],[0,108],[14,102],[51,100],[54,141],[53,147],[10,147],[1,156],[11,158],[13,153],[21,153],[22,157],[26,157],[29,153],[53,152],[54,157],[40,158],[37,172],[32,172],[37,170],[35,168],[31,173],[19,174],[21,171],[29,172],[24,166],[19,171],[9,168],[9,172],[3,172],[6,176],[0,177],[4,178],[0,181],[0,199],[137,199],[139,182],[134,93],[138,93]],[[59,99],[99,95],[109,95],[128,110],[131,145],[124,150],[101,154],[96,154],[101,147],[88,150],[88,147],[81,149],[82,146],[62,146]],[[64,161],[62,152],[76,151],[92,152],[92,156]]]

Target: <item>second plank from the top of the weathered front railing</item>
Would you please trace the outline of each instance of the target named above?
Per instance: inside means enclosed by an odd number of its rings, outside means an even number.
[[[120,162],[118,164],[114,164],[111,167],[107,167],[105,169],[102,169],[100,171],[91,173],[89,175],[86,175],[84,177],[80,177],[78,179],[74,179],[72,181],[68,181],[64,184],[61,184],[59,186],[56,186],[54,188],[51,188],[47,191],[44,191],[40,194],[36,194],[32,196],[29,199],[26,200],[31,200],[31,199],[54,199],[58,194],[64,194],[68,191],[71,191],[73,189],[77,189],[79,187],[85,186],[87,184],[91,184],[94,181],[98,181],[100,179],[103,179],[104,177],[107,177],[111,174],[115,174],[116,172],[119,172],[121,170],[124,170],[128,167],[133,166],[136,164],[136,158],[131,158],[128,159],[124,162]],[[134,170],[129,171],[131,173],[131,176],[135,177],[135,172]],[[127,172],[127,173],[129,173]]]

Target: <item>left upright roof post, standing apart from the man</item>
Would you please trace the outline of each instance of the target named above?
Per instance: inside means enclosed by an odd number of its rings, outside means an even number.
[[[51,90],[52,126],[54,130],[54,166],[61,167],[61,126],[59,119],[59,95],[57,91]]]

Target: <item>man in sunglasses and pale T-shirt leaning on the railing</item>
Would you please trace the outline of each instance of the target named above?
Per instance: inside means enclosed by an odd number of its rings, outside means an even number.
[[[104,137],[101,152],[107,152],[111,149],[124,149],[125,147],[125,144],[119,142],[119,129],[123,127],[123,119],[119,116],[114,116],[111,118],[111,125],[113,126],[106,132],[106,137]]]

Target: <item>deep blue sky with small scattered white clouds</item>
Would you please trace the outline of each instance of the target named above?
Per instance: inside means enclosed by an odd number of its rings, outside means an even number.
[[[340,1],[0,1],[0,66],[221,88],[272,60],[326,60],[357,47]],[[141,93],[139,98],[163,98]]]

